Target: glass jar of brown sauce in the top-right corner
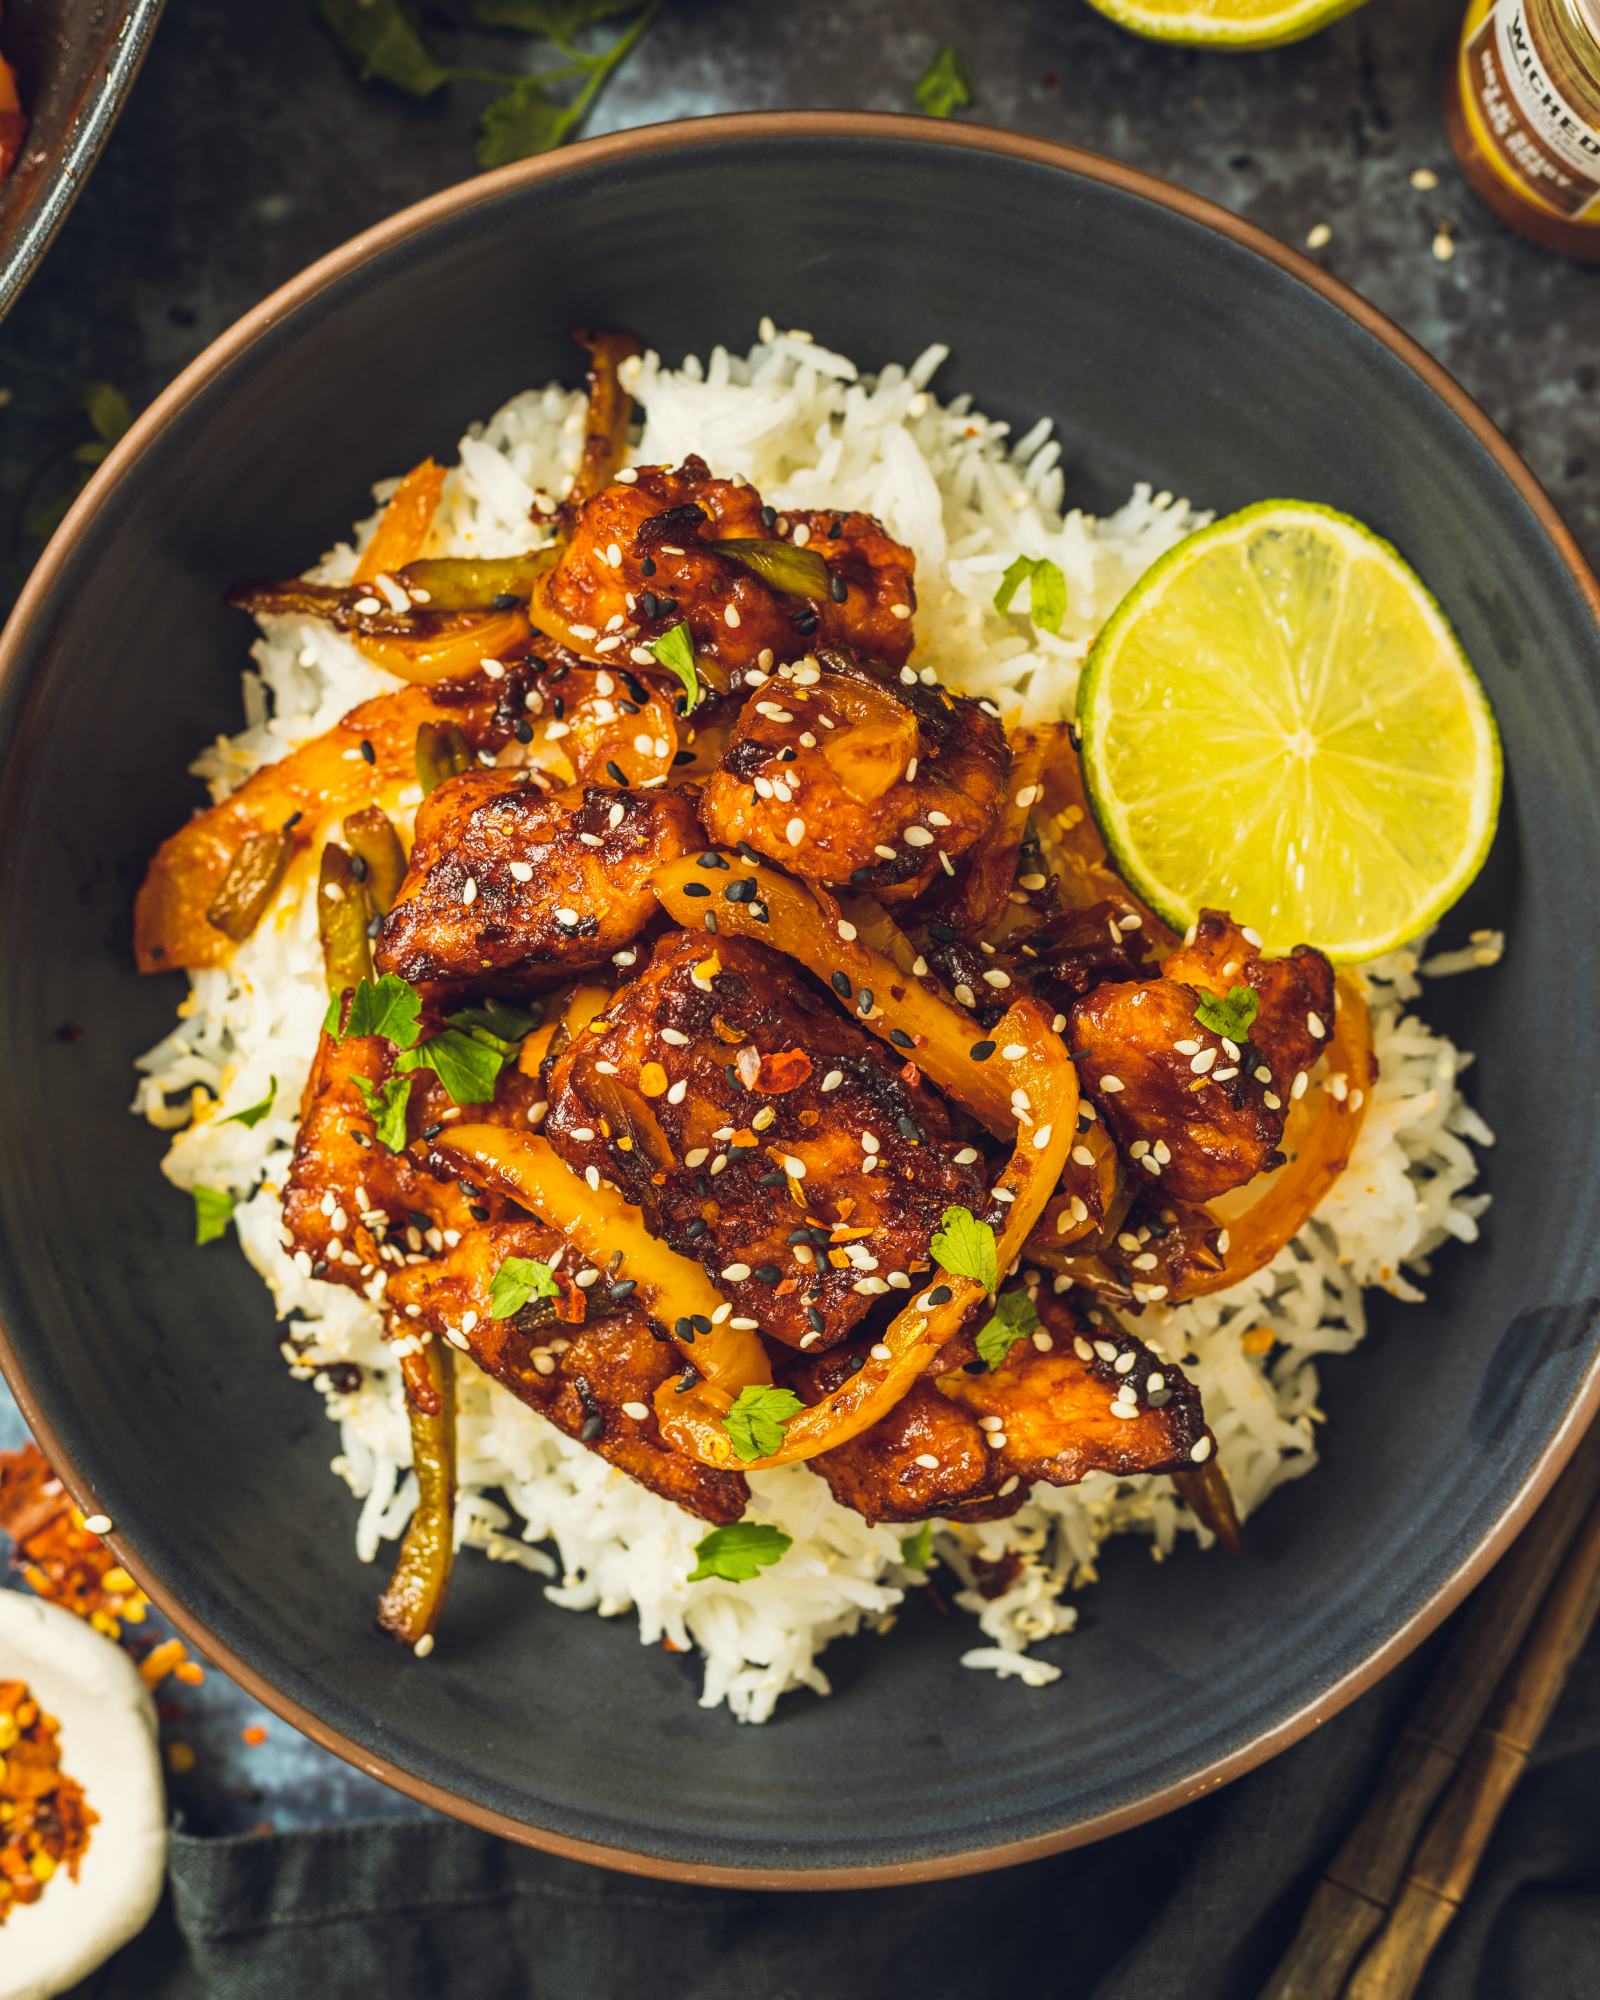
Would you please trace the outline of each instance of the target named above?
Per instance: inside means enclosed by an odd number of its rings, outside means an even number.
[[[1600,262],[1600,0],[1472,0],[1444,114],[1512,228]]]

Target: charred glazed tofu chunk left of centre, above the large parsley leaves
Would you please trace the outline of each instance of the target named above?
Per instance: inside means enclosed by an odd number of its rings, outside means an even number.
[[[520,770],[464,772],[416,814],[374,962],[412,984],[456,986],[592,970],[660,914],[652,872],[698,844],[686,792],[550,792]]]

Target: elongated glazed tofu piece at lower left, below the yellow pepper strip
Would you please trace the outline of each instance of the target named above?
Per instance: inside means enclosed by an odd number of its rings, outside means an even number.
[[[494,1276],[506,1258],[550,1266],[556,1298],[494,1316]],[[612,1292],[602,1272],[542,1222],[468,1228],[442,1258],[396,1270],[390,1310],[470,1354],[514,1396],[608,1464],[710,1522],[732,1522],[750,1498],[742,1474],[674,1452],[656,1424],[654,1396],[682,1374],[666,1330]]]

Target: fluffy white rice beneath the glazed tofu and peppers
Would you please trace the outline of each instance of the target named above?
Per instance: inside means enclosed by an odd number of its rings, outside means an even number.
[[[1208,516],[1148,486],[1136,486],[1108,518],[1062,512],[1062,446],[1048,422],[1012,440],[970,398],[938,402],[928,382],[942,360],[944,348],[932,346],[910,368],[864,376],[842,354],[770,322],[748,356],[718,348],[676,370],[646,356],[632,380],[644,410],[634,456],[660,464],[698,452],[718,472],[750,478],[780,508],[848,504],[878,514],[918,556],[918,664],[994,698],[1008,716],[1058,716],[1118,598]],[[534,494],[564,490],[582,432],[584,400],[564,388],[516,396],[474,428],[444,484],[434,550],[522,550]],[[374,498],[390,490],[380,486]],[[318,574],[348,576],[370,528],[332,550]],[[1060,634],[994,610],[996,584],[1018,554],[1060,564],[1068,584]],[[248,726],[194,766],[214,796],[392,686],[322,624],[264,620],[252,658]],[[1462,952],[1426,964],[1416,952],[1396,952],[1366,968],[1382,1074],[1350,1168],[1272,1266],[1230,1292],[1140,1322],[1140,1334],[1200,1384],[1242,1514],[1316,1464],[1316,1364],[1362,1338],[1362,1290],[1420,1298],[1416,1278],[1426,1276],[1430,1254],[1448,1238],[1476,1236],[1488,1198],[1466,1192],[1476,1174],[1472,1144],[1488,1144],[1490,1132],[1458,1092],[1470,1058],[1408,1006],[1422,970],[1492,964],[1498,950],[1496,936],[1474,934]],[[174,1130],[166,1174],[176,1186],[226,1188],[238,1198],[240,1244],[286,1322],[284,1358],[324,1390],[340,1426],[334,1472],[360,1500],[356,1544],[370,1562],[404,1530],[414,1498],[398,1374],[376,1304],[306,1276],[280,1236],[294,1112],[324,1006],[312,890],[302,884],[230,966],[192,976],[178,1026],[140,1062],[134,1110]],[[224,1122],[264,1098],[274,1078],[270,1116],[254,1128]],[[330,1384],[336,1362],[360,1366],[356,1392]],[[902,1560],[906,1530],[870,1528],[804,1466],[790,1466],[750,1482],[752,1516],[794,1538],[782,1562],[748,1584],[690,1584],[704,1524],[476,1370],[462,1382],[460,1468],[460,1544],[532,1570],[554,1604],[632,1612],[644,1644],[698,1648],[702,1702],[726,1702],[746,1722],[766,1720],[788,1688],[826,1694],[818,1656],[828,1642],[862,1626],[888,1630],[906,1590],[924,1582]],[[982,1636],[962,1664],[1034,1686],[1054,1680],[1060,1668],[1030,1648],[1072,1628],[1070,1592],[1094,1576],[1096,1550],[1120,1532],[1146,1536],[1156,1558],[1180,1532],[1206,1540],[1168,1480],[1106,1474],[1076,1488],[1040,1486],[1010,1520],[938,1528],[934,1550]],[[1018,1554],[1020,1568],[1002,1596],[986,1598],[974,1588],[974,1558],[1004,1552]]]

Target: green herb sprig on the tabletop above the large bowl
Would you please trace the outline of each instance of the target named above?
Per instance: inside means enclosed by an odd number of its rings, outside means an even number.
[[[430,98],[446,84],[500,86],[478,118],[478,166],[528,160],[568,140],[658,6],[660,0],[472,0],[480,28],[538,36],[558,58],[542,70],[518,72],[442,60],[412,0],[314,0],[316,16],[362,78],[414,98]],[[624,16],[632,20],[596,48],[592,32]]]

